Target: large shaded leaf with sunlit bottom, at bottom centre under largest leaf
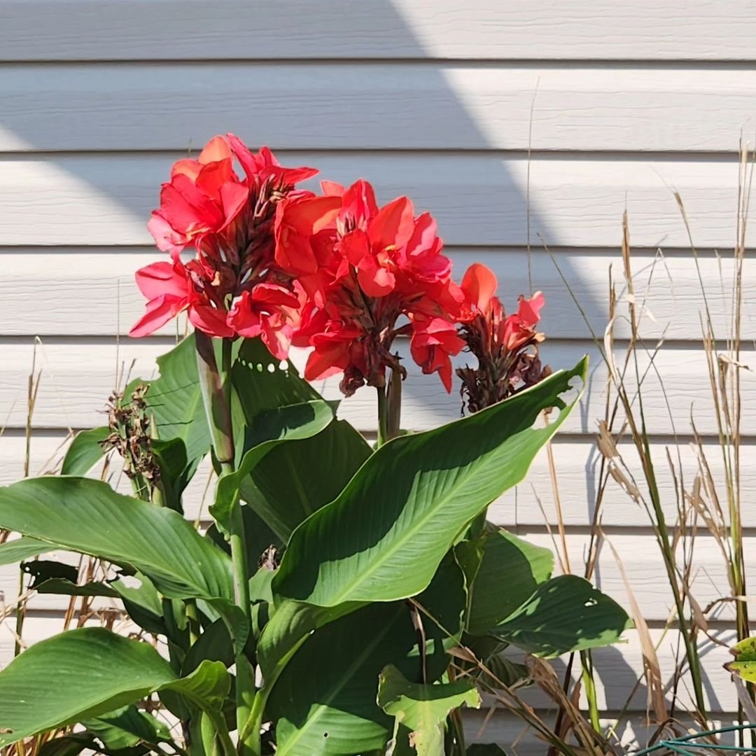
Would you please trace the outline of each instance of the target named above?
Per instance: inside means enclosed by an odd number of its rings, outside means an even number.
[[[281,609],[271,622],[277,621]],[[429,678],[435,679],[448,658],[438,631],[429,624],[426,633],[426,665]],[[383,748],[391,719],[376,704],[378,675],[390,663],[407,677],[420,679],[417,641],[403,602],[365,606],[306,636],[268,702],[268,714],[277,720],[277,756],[359,754]],[[266,671],[267,664],[267,681]]]

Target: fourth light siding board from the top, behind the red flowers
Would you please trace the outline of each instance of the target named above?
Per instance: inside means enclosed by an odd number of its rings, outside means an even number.
[[[500,280],[501,296],[507,309],[516,308],[520,293],[528,293],[526,250],[450,248],[447,254],[454,261],[457,280],[461,280],[472,262],[488,265]],[[135,271],[161,259],[167,258],[155,249],[21,252],[0,248],[0,270],[5,271],[0,278],[0,335],[114,336],[128,333],[144,311],[144,297],[134,283]],[[590,331],[557,265],[587,314],[593,332],[603,336],[609,321],[610,268],[618,283],[620,300],[624,300],[619,252],[576,250],[556,253],[552,259],[539,246],[531,251],[533,287],[543,291],[547,302],[541,330],[554,339],[583,338],[590,336]],[[702,257],[699,268],[714,333],[723,338],[730,329],[733,262],[714,256]],[[646,307],[641,321],[643,335],[647,339],[662,334],[671,340],[701,339],[699,316],[705,311],[705,302],[692,255],[656,259],[654,253],[635,253],[633,270],[637,300],[645,302]],[[756,260],[745,260],[743,278],[744,298],[749,302],[756,299]],[[35,299],[44,301],[45,307],[29,308],[29,302]],[[51,321],[51,312],[55,313],[54,321]],[[742,326],[744,339],[756,336],[756,322],[748,306]],[[175,324],[161,331],[175,332]],[[615,333],[618,337],[629,336],[627,321],[616,321]]]

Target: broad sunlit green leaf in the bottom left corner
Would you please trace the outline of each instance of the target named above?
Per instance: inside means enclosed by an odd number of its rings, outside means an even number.
[[[36,733],[175,689],[206,711],[218,711],[230,678],[205,662],[178,678],[152,646],[101,627],[85,627],[31,646],[0,672],[0,747]]]

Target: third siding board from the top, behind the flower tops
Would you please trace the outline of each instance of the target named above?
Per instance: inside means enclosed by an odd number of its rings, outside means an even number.
[[[370,178],[382,200],[408,194],[432,209],[449,244],[524,245],[526,156],[437,153],[285,153],[325,178]],[[174,156],[88,155],[5,160],[0,245],[149,244],[145,221]],[[615,246],[629,212],[638,246],[688,246],[673,189],[698,246],[733,243],[738,166],[733,160],[547,159],[530,164],[531,240]],[[312,185],[312,184],[311,184]],[[754,233],[752,227],[751,235]],[[750,240],[750,236],[749,236]]]

